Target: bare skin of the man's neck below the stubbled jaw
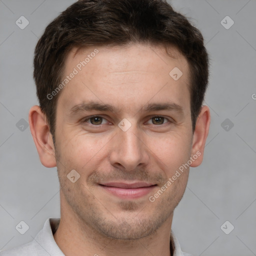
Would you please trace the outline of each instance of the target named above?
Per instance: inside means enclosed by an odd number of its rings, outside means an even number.
[[[150,236],[135,241],[116,240],[81,223],[63,197],[60,190],[60,222],[53,237],[65,256],[172,256],[170,231],[173,213]]]

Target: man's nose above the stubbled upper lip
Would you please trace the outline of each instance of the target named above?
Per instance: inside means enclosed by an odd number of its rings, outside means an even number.
[[[132,171],[137,166],[145,166],[149,162],[149,148],[145,141],[145,133],[135,123],[123,131],[117,127],[112,140],[110,163],[117,168]]]

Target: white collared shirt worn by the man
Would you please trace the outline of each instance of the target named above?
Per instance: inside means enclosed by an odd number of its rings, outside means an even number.
[[[48,218],[33,241],[16,246],[13,249],[0,251],[0,256],[65,256],[53,237],[53,234],[57,230],[59,220],[60,218]],[[179,242],[172,231],[171,234],[174,243],[173,256],[192,256],[181,251]]]

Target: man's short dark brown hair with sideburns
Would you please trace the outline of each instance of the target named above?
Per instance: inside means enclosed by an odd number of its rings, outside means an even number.
[[[60,93],[52,99],[47,95],[61,82],[68,51],[132,42],[175,46],[185,56],[194,131],[208,84],[208,54],[200,31],[166,0],[78,0],[47,25],[34,51],[36,94],[53,141]]]

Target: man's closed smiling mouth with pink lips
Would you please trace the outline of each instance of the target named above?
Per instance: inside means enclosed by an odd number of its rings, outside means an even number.
[[[135,199],[145,196],[154,189],[156,184],[146,182],[124,183],[108,182],[99,184],[106,192],[122,199]]]

